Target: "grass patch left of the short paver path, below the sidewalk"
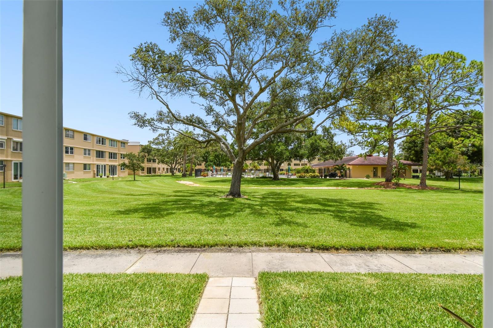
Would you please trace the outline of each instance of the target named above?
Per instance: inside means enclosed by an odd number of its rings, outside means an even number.
[[[0,279],[0,327],[21,327],[22,278]],[[64,275],[64,327],[189,327],[206,274]]]

